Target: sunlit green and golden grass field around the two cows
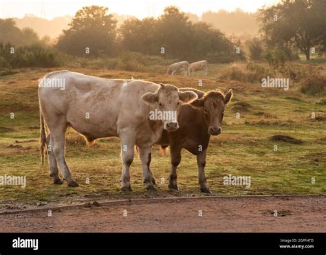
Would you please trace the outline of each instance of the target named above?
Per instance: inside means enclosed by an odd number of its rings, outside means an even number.
[[[326,195],[326,106],[325,98],[306,96],[290,81],[290,89],[265,89],[259,83],[221,80],[217,73],[224,65],[210,65],[209,76],[166,76],[158,72],[72,69],[103,78],[140,78],[166,82],[177,87],[208,91],[232,88],[234,98],[226,110],[224,132],[211,137],[206,177],[215,195]],[[157,67],[158,68],[158,67]],[[323,71],[325,67],[321,66]],[[140,159],[131,166],[132,194],[120,191],[120,141],[101,139],[87,147],[74,131],[67,133],[66,157],[78,188],[54,186],[47,164],[39,155],[39,101],[37,80],[58,69],[21,69],[18,74],[0,77],[0,176],[25,175],[26,188],[0,186],[0,201],[60,200],[72,196],[137,197],[146,195]],[[165,69],[164,69],[165,70]],[[202,74],[200,74],[202,75]],[[203,87],[198,87],[201,79]],[[14,118],[10,118],[14,113]],[[240,118],[236,118],[236,114]],[[312,113],[316,118],[312,119]],[[271,140],[273,135],[290,135],[299,143]],[[274,145],[278,151],[274,151]],[[179,192],[170,192],[167,177],[169,155],[153,147],[151,169],[158,181],[159,194],[202,195],[197,184],[195,156],[182,153],[178,168]],[[225,175],[248,175],[251,187],[224,186]],[[312,184],[312,178],[316,182]],[[90,183],[85,180],[89,178]]]

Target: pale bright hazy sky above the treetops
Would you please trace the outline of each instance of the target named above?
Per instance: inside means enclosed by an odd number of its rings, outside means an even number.
[[[0,18],[23,17],[34,14],[46,19],[55,16],[74,16],[85,5],[109,7],[109,12],[129,14],[142,19],[145,16],[159,16],[167,5],[176,5],[183,12],[193,12],[198,16],[202,12],[220,9],[232,11],[241,8],[246,12],[255,12],[263,5],[278,0],[0,0]]]

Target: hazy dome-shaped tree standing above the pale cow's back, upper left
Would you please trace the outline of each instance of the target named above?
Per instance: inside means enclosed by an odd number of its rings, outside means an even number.
[[[63,30],[56,47],[72,55],[89,54],[98,56],[100,52],[107,55],[115,53],[116,23],[108,8],[92,5],[83,7],[76,12],[69,23],[69,29]]]

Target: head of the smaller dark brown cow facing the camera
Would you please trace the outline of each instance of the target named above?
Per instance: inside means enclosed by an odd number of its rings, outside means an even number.
[[[219,135],[221,133],[225,107],[230,102],[232,95],[232,89],[226,95],[217,89],[216,91],[209,91],[203,98],[199,98],[191,103],[194,107],[202,107],[204,109],[204,117],[208,124],[208,133],[210,135]]]

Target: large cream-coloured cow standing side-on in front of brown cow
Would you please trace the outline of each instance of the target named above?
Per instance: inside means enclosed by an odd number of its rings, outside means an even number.
[[[58,81],[64,86],[58,87]],[[46,144],[54,184],[63,183],[58,176],[59,166],[68,186],[78,186],[65,162],[67,127],[84,135],[87,142],[116,136],[122,145],[122,190],[131,190],[129,166],[135,145],[140,147],[146,188],[155,189],[148,163],[151,146],[160,139],[163,129],[175,130],[178,123],[176,118],[150,119],[149,116],[153,111],[173,111],[177,116],[181,101],[195,98],[197,94],[193,91],[179,91],[173,85],[143,80],[108,80],[72,71],[47,74],[39,82],[42,163]],[[45,124],[50,131],[47,136]]]

